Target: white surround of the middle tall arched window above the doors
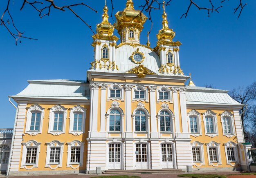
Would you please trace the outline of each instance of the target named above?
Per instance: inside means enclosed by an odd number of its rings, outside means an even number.
[[[135,113],[136,111],[138,110],[141,110],[141,111],[144,111],[144,113],[146,114],[146,131],[136,131],[135,130]],[[134,109],[134,111],[132,112],[132,129],[133,129],[133,132],[134,133],[138,133],[138,134],[149,134],[149,122],[150,122],[150,115],[149,115],[149,112],[146,108],[144,108],[144,104],[142,102],[139,102],[137,104],[137,108]]]

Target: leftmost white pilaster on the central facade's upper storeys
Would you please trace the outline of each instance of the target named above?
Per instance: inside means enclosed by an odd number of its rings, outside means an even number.
[[[90,127],[88,137],[92,138],[93,133],[97,133],[97,120],[98,120],[98,98],[99,98],[99,86],[98,83],[91,83],[91,101],[90,101]]]

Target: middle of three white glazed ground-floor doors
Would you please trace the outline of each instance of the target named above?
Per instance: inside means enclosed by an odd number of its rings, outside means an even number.
[[[148,169],[147,145],[136,144],[136,169]]]

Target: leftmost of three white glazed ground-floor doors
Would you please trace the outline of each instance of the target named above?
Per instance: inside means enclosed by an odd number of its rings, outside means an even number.
[[[109,145],[109,165],[108,169],[121,169],[121,145]]]

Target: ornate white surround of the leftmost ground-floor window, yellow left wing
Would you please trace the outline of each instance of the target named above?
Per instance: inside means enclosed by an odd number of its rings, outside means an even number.
[[[36,142],[35,140],[29,140],[25,143],[21,143],[23,145],[22,148],[22,158],[21,158],[21,165],[20,168],[25,168],[27,170],[37,168],[38,167],[38,161],[39,161],[39,153],[40,153],[40,145],[41,143]],[[37,148],[36,150],[36,163],[26,163],[26,156],[27,156],[27,148],[28,147],[34,147]],[[29,168],[27,167],[29,166]],[[32,166],[32,167],[30,167]]]

